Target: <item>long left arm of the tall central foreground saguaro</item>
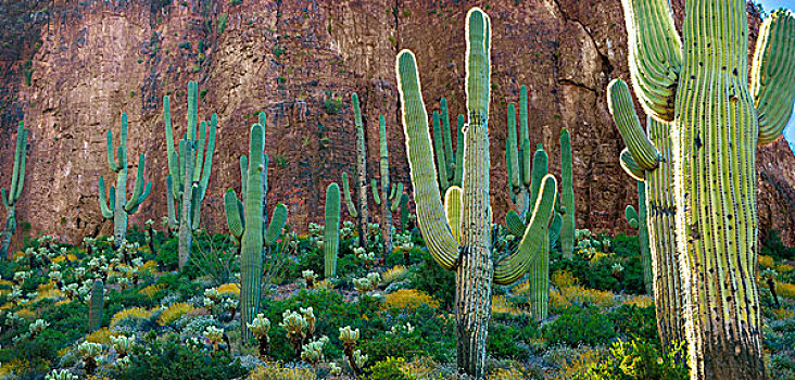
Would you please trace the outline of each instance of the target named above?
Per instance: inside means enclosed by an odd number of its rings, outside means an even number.
[[[408,166],[417,203],[417,223],[433,258],[442,267],[453,269],[458,258],[458,242],[447,225],[437,182],[433,145],[428,132],[428,112],[422,102],[414,53],[409,50],[401,51],[395,68]]]

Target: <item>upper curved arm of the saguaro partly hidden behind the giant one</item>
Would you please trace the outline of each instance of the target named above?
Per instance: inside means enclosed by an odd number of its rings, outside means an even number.
[[[662,155],[643,131],[627,84],[621,79],[613,79],[607,86],[607,99],[616,127],[618,127],[627,149],[632,153],[634,162],[645,170],[657,168]]]

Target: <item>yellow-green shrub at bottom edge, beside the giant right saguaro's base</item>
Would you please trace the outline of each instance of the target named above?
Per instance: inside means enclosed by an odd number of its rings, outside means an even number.
[[[668,353],[641,341],[613,343],[603,360],[591,367],[582,379],[590,380],[685,380],[687,365],[682,346]]]

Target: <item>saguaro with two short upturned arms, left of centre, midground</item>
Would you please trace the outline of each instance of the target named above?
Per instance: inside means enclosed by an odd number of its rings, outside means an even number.
[[[245,342],[251,338],[248,325],[260,309],[263,249],[276,244],[287,221],[287,206],[282,203],[274,210],[269,225],[263,216],[268,165],[267,155],[263,153],[264,142],[263,126],[254,124],[249,139],[249,160],[240,159],[243,201],[238,200],[232,189],[224,194],[229,231],[240,244],[240,327]]]

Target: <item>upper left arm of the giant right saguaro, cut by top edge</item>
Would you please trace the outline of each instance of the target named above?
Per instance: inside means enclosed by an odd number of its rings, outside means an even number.
[[[682,66],[682,41],[668,0],[621,0],[632,85],[647,114],[670,122]]]

